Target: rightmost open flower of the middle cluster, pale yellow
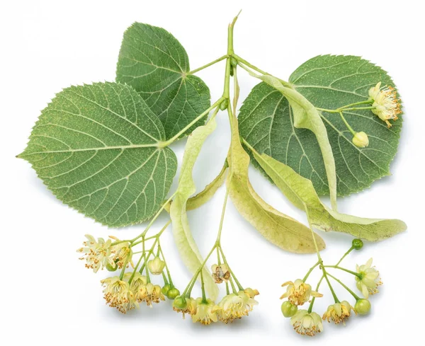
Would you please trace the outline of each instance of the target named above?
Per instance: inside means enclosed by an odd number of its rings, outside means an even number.
[[[212,311],[217,312],[220,321],[227,324],[242,316],[248,316],[249,311],[252,311],[257,304],[258,302],[248,293],[239,291],[237,294],[227,294]]]

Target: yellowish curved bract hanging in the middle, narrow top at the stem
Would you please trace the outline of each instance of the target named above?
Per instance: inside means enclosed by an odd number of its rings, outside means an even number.
[[[239,214],[279,248],[293,253],[314,253],[312,231],[268,205],[252,188],[248,178],[249,155],[239,142],[236,118],[232,118],[231,122],[232,144],[227,156],[231,172],[227,176],[227,188]],[[314,236],[319,250],[323,250],[323,239],[317,234]]]

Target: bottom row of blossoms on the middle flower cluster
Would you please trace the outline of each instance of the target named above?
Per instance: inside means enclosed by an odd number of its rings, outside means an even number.
[[[194,323],[199,322],[209,325],[212,322],[222,321],[232,323],[238,318],[248,316],[258,302],[254,296],[259,292],[256,289],[244,289],[237,293],[227,294],[222,300],[215,304],[211,299],[178,296],[174,299],[173,308],[177,312],[186,313],[192,316]]]

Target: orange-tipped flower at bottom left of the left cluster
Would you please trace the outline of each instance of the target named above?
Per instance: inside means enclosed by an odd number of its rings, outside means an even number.
[[[130,292],[130,285],[128,282],[121,280],[119,277],[108,277],[101,280],[103,284],[103,298],[106,304],[112,308],[118,308],[118,311],[126,313],[138,306]]]

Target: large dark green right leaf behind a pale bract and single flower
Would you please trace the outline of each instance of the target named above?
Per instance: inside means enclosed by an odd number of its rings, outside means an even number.
[[[295,91],[317,108],[336,109],[368,99],[368,90],[378,81],[394,86],[380,67],[353,56],[324,55],[302,64],[291,76]],[[336,163],[338,195],[368,188],[374,180],[389,175],[397,152],[402,119],[388,129],[370,110],[344,112],[355,131],[369,137],[367,148],[351,142],[339,114],[320,113]],[[305,129],[297,129],[288,100],[276,89],[260,83],[244,101],[239,115],[241,134],[259,153],[268,154],[312,180],[319,195],[329,195],[327,175],[317,139]],[[258,165],[256,165],[258,167]]]

